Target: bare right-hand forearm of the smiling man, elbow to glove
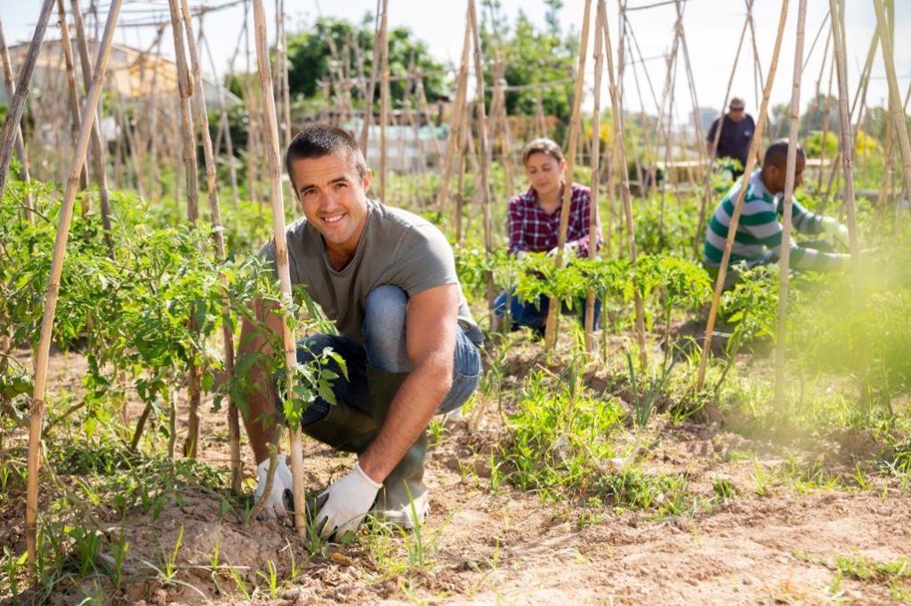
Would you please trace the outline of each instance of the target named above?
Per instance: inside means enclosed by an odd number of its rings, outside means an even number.
[[[395,394],[376,439],[359,459],[361,469],[382,482],[433,419],[452,387],[452,367],[427,363],[412,370]]]

